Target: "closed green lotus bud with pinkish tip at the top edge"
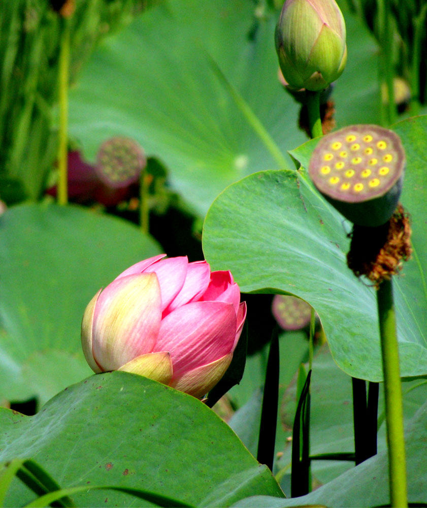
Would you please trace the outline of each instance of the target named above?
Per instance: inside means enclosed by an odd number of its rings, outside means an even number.
[[[335,0],[286,0],[275,38],[290,86],[318,91],[341,76],[347,47],[344,18]]]

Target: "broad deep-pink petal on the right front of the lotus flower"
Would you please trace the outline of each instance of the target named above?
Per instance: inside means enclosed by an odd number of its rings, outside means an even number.
[[[171,353],[175,379],[231,353],[236,325],[236,313],[229,303],[188,303],[161,321],[153,351]]]

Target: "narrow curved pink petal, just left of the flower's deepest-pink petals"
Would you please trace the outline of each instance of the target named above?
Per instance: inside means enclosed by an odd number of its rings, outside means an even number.
[[[169,307],[163,312],[163,317],[181,305],[199,300],[208,288],[211,271],[206,261],[189,263],[184,285]]]

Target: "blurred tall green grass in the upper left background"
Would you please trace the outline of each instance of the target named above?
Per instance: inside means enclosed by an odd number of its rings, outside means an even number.
[[[96,44],[153,0],[77,0],[71,16],[71,84]],[[55,163],[62,18],[48,0],[0,5],[0,197],[8,204],[42,197]]]

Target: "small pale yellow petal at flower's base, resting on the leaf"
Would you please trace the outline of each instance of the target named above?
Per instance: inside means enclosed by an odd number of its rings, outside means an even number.
[[[147,353],[122,365],[118,370],[149,377],[168,385],[172,378],[172,360],[168,352]]]

